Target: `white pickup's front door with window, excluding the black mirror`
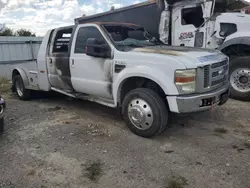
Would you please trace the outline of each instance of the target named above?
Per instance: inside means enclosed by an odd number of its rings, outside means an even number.
[[[89,38],[107,44],[102,31],[95,26],[78,27],[72,43],[70,56],[71,82],[76,92],[112,99],[112,59],[92,57],[85,54]]]

